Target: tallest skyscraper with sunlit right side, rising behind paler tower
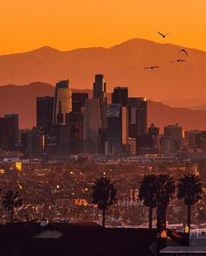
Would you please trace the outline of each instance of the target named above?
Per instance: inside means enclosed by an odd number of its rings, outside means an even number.
[[[107,127],[107,120],[106,120],[107,98],[106,98],[106,82],[103,74],[95,75],[95,82],[93,83],[93,99],[100,100],[101,128],[106,128]]]

